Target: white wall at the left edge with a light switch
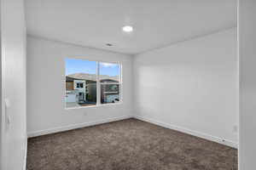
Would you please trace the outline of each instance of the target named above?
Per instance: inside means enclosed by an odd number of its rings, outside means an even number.
[[[23,0],[1,0],[1,45],[0,169],[20,170],[26,161],[26,26]],[[5,99],[9,100],[7,107]]]

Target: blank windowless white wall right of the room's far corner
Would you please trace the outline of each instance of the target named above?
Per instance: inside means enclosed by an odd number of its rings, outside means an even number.
[[[137,116],[236,146],[237,65],[235,28],[138,54]]]

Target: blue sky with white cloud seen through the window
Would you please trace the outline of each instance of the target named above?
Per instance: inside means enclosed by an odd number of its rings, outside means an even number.
[[[66,59],[66,75],[84,72],[96,74],[96,61],[85,59]],[[100,74],[110,77],[119,75],[119,65],[111,63],[100,63]]]

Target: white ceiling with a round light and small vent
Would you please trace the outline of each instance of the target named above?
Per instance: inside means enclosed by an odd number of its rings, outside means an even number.
[[[32,35],[138,54],[236,26],[236,0],[26,0],[26,21]]]

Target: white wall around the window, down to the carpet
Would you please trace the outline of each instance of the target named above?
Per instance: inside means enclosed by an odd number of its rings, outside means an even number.
[[[119,61],[123,65],[123,103],[65,110],[65,58]],[[94,122],[131,116],[131,56],[95,48],[27,38],[27,131],[52,133]]]

